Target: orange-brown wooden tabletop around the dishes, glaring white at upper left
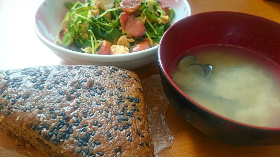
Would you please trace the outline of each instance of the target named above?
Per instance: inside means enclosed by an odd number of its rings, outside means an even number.
[[[31,22],[34,7],[38,3],[40,0],[0,0],[0,69],[71,64],[55,56],[36,37]],[[189,3],[192,14],[229,10],[251,13],[280,22],[280,3],[263,0],[189,0]],[[134,71],[139,74],[140,79],[146,79],[152,74],[157,74],[158,67],[154,63]],[[171,149],[162,151],[160,156],[280,156],[280,146],[234,147],[215,141],[184,121],[171,106],[167,111],[167,119],[169,128],[174,134],[174,144]],[[12,148],[13,142],[0,133],[0,147]]]

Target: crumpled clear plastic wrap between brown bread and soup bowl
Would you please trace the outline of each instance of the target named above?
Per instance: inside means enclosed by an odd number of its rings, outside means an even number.
[[[173,144],[174,137],[165,117],[169,101],[164,94],[160,75],[152,75],[149,79],[141,81],[141,84],[148,109],[148,122],[155,146],[155,156],[158,156],[162,149]]]

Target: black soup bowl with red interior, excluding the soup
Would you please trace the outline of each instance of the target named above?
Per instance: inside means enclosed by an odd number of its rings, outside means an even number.
[[[186,50],[204,44],[237,45],[260,52],[279,64],[280,24],[244,13],[200,13],[172,25],[158,49],[164,92],[181,117],[207,135],[233,145],[280,144],[280,124],[278,128],[269,128],[228,119],[193,101],[172,81],[170,68],[176,58]]]

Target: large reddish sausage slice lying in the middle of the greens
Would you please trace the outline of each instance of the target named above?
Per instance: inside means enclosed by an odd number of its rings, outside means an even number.
[[[135,38],[142,37],[146,32],[143,22],[134,17],[131,13],[122,13],[120,17],[120,25],[127,31],[127,33]]]

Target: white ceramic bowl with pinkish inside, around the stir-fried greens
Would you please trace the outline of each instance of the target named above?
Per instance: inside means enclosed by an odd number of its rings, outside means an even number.
[[[38,7],[35,15],[34,30],[38,38],[57,56],[71,62],[83,65],[111,65],[125,69],[134,69],[148,65],[156,60],[157,48],[152,47],[139,52],[120,55],[93,55],[72,51],[54,44],[55,36],[68,9],[65,2],[75,0],[45,0]],[[160,0],[175,11],[174,22],[191,15],[190,5],[186,0]],[[81,1],[84,2],[84,1]]]

